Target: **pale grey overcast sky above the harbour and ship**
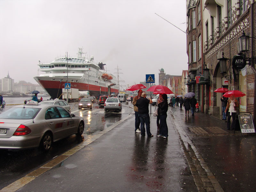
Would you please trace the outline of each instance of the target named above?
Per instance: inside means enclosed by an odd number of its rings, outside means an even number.
[[[146,74],[181,75],[188,69],[186,1],[0,0],[0,78],[36,84],[38,61],[76,56],[83,47],[107,64],[122,87]],[[124,81],[124,82],[122,82]]]

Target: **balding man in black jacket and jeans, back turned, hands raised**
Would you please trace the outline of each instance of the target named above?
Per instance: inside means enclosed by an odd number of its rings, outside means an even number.
[[[153,137],[154,135],[150,132],[150,117],[148,114],[148,104],[153,103],[151,98],[146,98],[146,93],[142,93],[141,97],[137,100],[136,106],[138,107],[138,113],[140,117],[140,131],[141,136],[145,136],[145,124],[148,137]]]

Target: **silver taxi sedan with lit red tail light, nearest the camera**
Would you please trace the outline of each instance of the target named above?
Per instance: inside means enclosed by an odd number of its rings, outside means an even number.
[[[84,119],[59,105],[28,101],[0,114],[0,148],[40,147],[49,151],[53,142],[84,132]]]

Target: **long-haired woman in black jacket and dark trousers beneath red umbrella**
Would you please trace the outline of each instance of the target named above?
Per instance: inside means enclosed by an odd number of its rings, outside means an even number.
[[[157,101],[159,113],[158,116],[160,116],[160,132],[157,137],[163,137],[166,139],[168,137],[168,126],[166,123],[167,118],[167,111],[168,111],[168,101],[167,101],[167,95],[163,94],[163,101],[160,103]]]

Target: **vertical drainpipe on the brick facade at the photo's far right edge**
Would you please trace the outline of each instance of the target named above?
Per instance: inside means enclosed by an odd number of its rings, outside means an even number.
[[[251,2],[251,37],[253,37],[253,21],[255,20],[255,19],[253,19],[253,4],[255,4],[255,3],[252,3]],[[253,72],[254,72],[254,101],[253,101],[253,124],[254,124],[254,127],[255,127],[255,120],[256,120],[256,97],[255,97],[255,95],[256,95],[256,70],[255,70],[255,58],[254,58],[254,55],[253,55],[253,52],[254,52],[254,50],[253,50],[253,39],[251,40],[251,57],[253,58],[252,59],[252,66],[251,66],[251,68],[252,68],[252,70],[253,70]]]

